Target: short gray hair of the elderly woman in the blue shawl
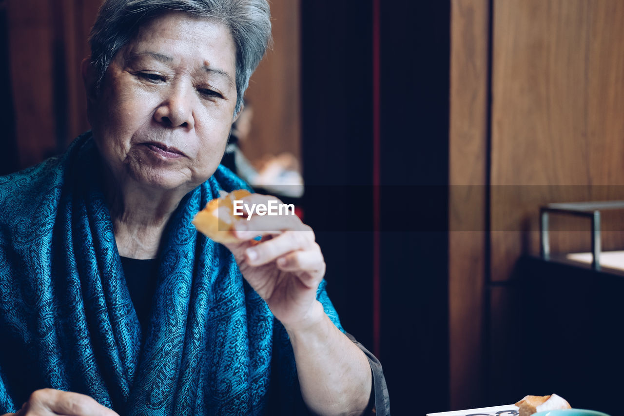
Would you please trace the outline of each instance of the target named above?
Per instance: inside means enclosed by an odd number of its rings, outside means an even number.
[[[238,113],[251,74],[271,44],[271,16],[266,0],[105,0],[89,37],[98,86],[110,61],[137,36],[139,27],[168,11],[214,19],[230,30],[236,46],[235,114]]]

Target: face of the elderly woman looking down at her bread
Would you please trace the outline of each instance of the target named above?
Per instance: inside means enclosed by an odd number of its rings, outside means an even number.
[[[172,12],[115,55],[89,120],[117,181],[188,191],[212,176],[233,122],[235,51],[222,24]]]

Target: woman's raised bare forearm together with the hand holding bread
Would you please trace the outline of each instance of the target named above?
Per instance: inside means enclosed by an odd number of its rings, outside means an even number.
[[[243,202],[265,204],[275,197],[253,194]],[[301,395],[313,414],[359,415],[371,396],[371,367],[364,353],[331,322],[316,290],[325,262],[314,232],[296,215],[258,215],[235,223],[225,244],[243,276],[265,300],[290,337]],[[253,240],[262,236],[260,243]]]

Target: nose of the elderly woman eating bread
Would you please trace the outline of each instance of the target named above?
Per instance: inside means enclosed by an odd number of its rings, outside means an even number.
[[[193,119],[193,101],[191,87],[180,84],[168,86],[166,96],[154,112],[157,122],[165,124],[167,127],[183,127],[191,130],[195,127]]]

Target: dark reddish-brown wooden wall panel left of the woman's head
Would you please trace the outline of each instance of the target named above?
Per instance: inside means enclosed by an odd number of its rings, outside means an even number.
[[[19,167],[89,129],[80,62],[100,0],[6,2]]]

